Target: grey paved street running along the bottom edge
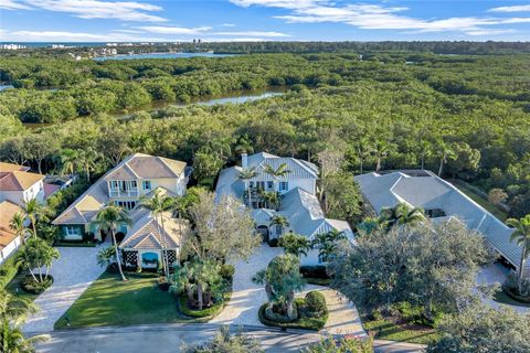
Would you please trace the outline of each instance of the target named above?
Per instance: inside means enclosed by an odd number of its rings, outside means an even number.
[[[280,330],[272,328],[231,327],[243,330],[259,341],[267,353],[299,353],[300,347],[317,343],[322,338],[317,332]],[[194,344],[211,340],[219,330],[216,324],[152,324],[121,328],[93,328],[61,330],[51,333],[51,340],[36,346],[39,353],[115,353],[153,352],[176,353],[183,343]],[[390,341],[374,342],[375,352],[420,353],[422,345]]]

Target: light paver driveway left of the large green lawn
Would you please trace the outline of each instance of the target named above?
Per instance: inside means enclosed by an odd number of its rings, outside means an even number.
[[[105,246],[105,245],[103,245]],[[98,247],[60,247],[61,258],[50,274],[54,282],[35,299],[40,312],[29,318],[25,332],[50,332],[53,324],[104,271],[97,265]]]

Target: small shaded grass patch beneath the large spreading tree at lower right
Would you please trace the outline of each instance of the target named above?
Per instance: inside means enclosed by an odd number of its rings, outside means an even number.
[[[438,339],[438,334],[434,329],[398,324],[388,319],[362,320],[362,325],[367,331],[373,332],[375,339],[380,340],[428,344]]]

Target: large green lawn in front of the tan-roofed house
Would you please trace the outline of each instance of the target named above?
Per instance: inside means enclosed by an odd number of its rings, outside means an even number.
[[[117,275],[103,274],[55,322],[55,329],[65,329],[65,317],[71,328],[127,325],[142,323],[193,322],[180,314],[172,295],[157,287],[153,274],[127,274],[128,281]]]

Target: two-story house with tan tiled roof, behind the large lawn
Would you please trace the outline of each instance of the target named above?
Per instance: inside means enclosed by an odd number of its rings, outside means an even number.
[[[53,224],[61,228],[65,240],[104,240],[107,229],[98,229],[92,221],[108,204],[124,207],[129,211],[132,224],[119,225],[117,233],[120,240],[125,237],[121,243],[124,252],[134,253],[127,258],[130,260],[138,256],[140,261],[145,255],[145,263],[152,264],[162,247],[178,250],[180,234],[168,229],[160,234],[159,221],[149,211],[138,207],[140,197],[149,197],[156,190],[168,196],[181,196],[186,193],[187,183],[184,162],[136,153],[96,181]],[[168,218],[168,224],[172,222],[170,214],[165,218]],[[131,247],[126,248],[125,244]]]

